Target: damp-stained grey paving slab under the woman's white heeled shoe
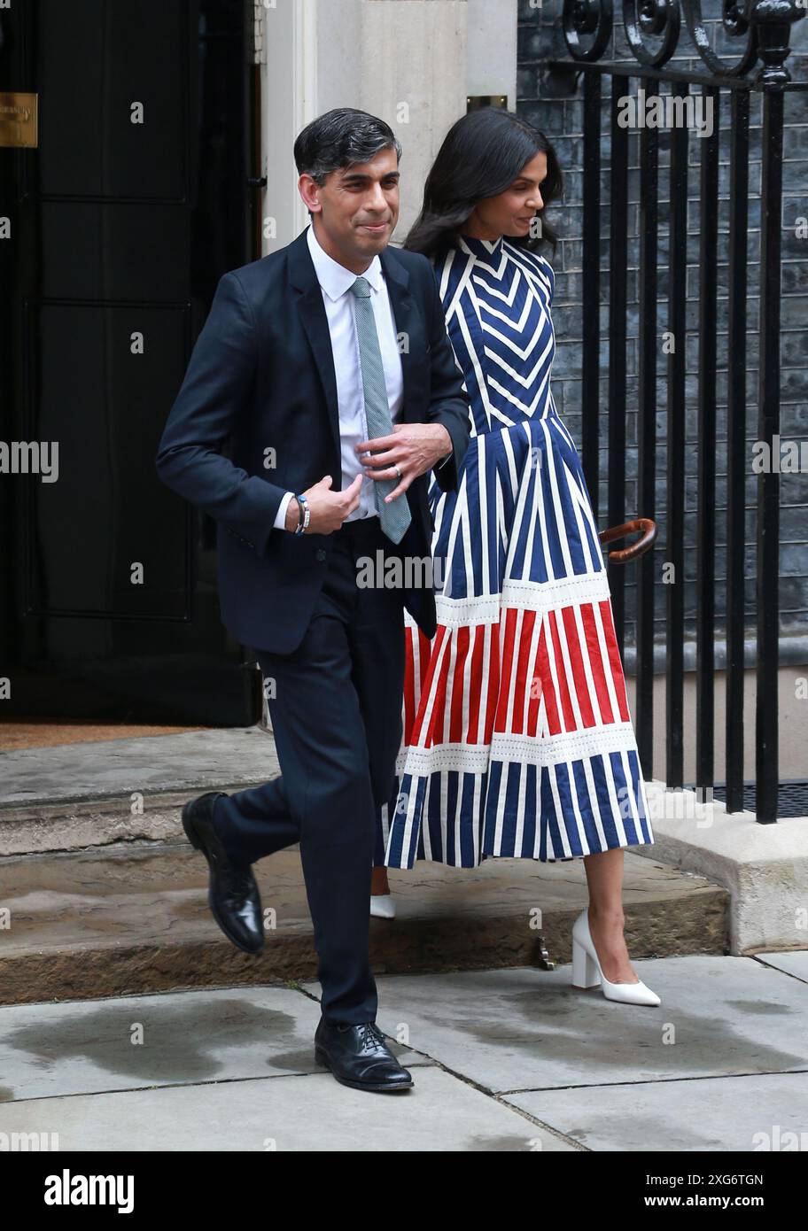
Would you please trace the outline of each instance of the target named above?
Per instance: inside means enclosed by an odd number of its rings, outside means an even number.
[[[633,965],[661,996],[659,1007],[574,988],[567,965],[392,976],[378,1020],[390,1037],[499,1093],[808,1066],[808,986],[801,981],[751,958]]]

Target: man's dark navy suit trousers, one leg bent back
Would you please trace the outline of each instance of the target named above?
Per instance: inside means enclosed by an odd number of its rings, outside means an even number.
[[[299,648],[259,650],[281,777],[219,799],[214,810],[239,863],[301,843],[323,1016],[354,1024],[376,1020],[371,865],[403,736],[404,592],[357,586],[357,560],[376,564],[379,549],[395,554],[378,517],[344,523]]]

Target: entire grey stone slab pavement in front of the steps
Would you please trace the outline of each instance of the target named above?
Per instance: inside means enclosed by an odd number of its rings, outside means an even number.
[[[808,1149],[808,953],[637,961],[659,1008],[569,965],[379,979],[415,1088],[313,1061],[317,985],[0,1008],[0,1133],[60,1150]],[[53,1139],[50,1139],[53,1140]]]

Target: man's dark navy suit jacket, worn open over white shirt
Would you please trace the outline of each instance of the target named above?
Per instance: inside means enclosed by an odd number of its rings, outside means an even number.
[[[469,438],[469,401],[425,256],[387,247],[382,268],[405,335],[400,422],[443,423],[453,457],[435,470],[457,486]],[[222,451],[228,449],[225,455]],[[275,468],[265,459],[272,457]],[[156,457],[163,481],[218,523],[222,619],[243,645],[291,654],[323,585],[331,534],[292,534],[273,521],[286,491],[330,474],[342,486],[336,378],[325,307],[305,230],[292,244],[225,273],[197,339]],[[427,471],[406,495],[413,521],[393,553],[429,559]],[[431,587],[404,593],[435,635]]]

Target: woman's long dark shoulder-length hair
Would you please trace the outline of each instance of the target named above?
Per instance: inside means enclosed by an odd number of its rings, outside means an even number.
[[[536,213],[541,235],[509,236],[507,241],[533,252],[549,243],[554,251],[557,235],[544,222],[544,211],[563,187],[556,151],[543,133],[501,107],[478,107],[452,124],[426,177],[421,212],[404,247],[425,256],[454,247],[477,202],[505,192],[538,153],[547,154],[544,204]]]

